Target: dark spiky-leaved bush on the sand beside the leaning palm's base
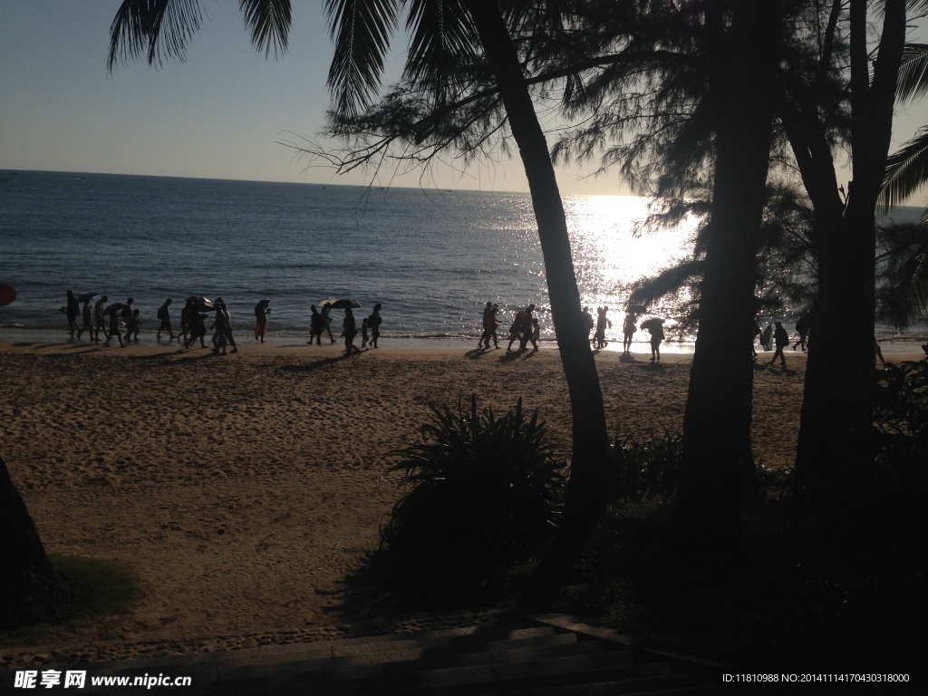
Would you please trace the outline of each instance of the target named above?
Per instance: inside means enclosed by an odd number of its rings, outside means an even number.
[[[538,412],[522,399],[496,417],[491,408],[432,407],[422,441],[393,452],[405,493],[381,538],[391,553],[432,565],[485,571],[523,557],[548,538],[561,511],[563,462]]]

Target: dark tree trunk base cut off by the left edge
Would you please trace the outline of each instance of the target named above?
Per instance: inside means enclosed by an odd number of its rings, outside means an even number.
[[[0,458],[0,627],[29,624],[60,606],[60,579]]]

